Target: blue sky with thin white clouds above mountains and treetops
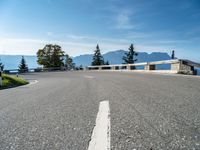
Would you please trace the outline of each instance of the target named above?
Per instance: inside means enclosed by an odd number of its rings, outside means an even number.
[[[128,49],[200,62],[199,0],[0,0],[0,54],[59,44],[71,56]]]

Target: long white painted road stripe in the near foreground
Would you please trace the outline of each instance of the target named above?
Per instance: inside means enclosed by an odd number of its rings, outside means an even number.
[[[110,126],[109,101],[102,101],[88,150],[110,150]]]

